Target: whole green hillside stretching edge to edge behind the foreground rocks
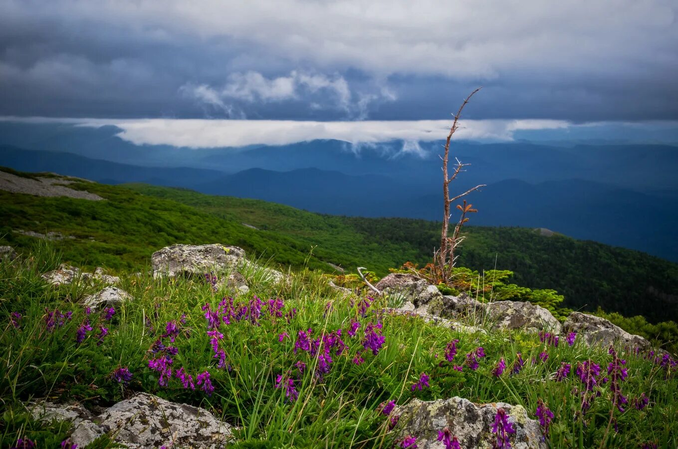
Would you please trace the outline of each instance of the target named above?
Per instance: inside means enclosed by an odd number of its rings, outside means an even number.
[[[410,261],[424,265],[438,244],[437,222],[357,218],[305,212],[254,199],[217,197],[145,184],[75,182],[108,201],[35,197],[0,191],[0,243],[28,248],[18,229],[58,231],[64,258],[77,265],[144,269],[150,254],[171,243],[221,242],[292,268],[353,272],[363,266],[383,276]],[[248,224],[257,229],[245,226]],[[570,309],[678,317],[678,265],[623,248],[532,229],[465,228],[458,266],[482,273],[513,271],[511,283],[553,289]]]

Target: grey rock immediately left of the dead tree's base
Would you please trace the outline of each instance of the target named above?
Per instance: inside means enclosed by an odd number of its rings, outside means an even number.
[[[375,288],[382,294],[397,296],[405,304],[411,302],[416,311],[422,313],[436,313],[441,307],[443,295],[436,286],[428,281],[406,273],[391,273],[377,282]]]

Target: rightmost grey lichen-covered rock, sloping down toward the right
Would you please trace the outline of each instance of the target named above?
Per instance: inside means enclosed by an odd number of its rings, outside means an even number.
[[[641,350],[650,349],[650,342],[639,335],[629,334],[619,326],[615,326],[607,319],[587,315],[581,312],[572,312],[563,324],[565,332],[577,332],[584,343],[607,347],[620,344]]]

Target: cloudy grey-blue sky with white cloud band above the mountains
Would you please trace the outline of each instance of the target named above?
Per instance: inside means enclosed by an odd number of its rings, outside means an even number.
[[[106,119],[130,139],[174,119],[438,132],[483,86],[471,134],[671,128],[677,13],[675,0],[0,0],[0,115]]]

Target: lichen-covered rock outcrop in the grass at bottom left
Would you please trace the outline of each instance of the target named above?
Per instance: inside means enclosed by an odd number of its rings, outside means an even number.
[[[115,435],[130,449],[174,447],[222,448],[232,440],[232,427],[203,408],[176,404],[147,393],[137,393],[98,416],[77,405],[49,402],[34,406],[36,418],[73,422],[71,441],[85,447],[99,435]]]

